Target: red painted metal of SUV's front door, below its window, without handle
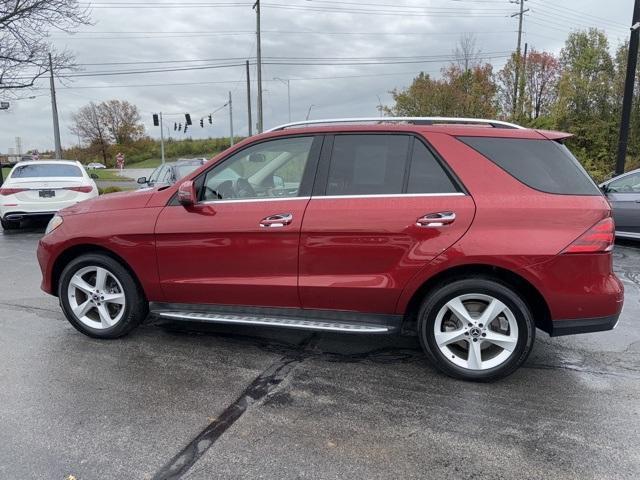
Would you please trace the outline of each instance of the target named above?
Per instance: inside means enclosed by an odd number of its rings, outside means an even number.
[[[298,241],[306,198],[166,207],[156,225],[161,287],[176,303],[300,307]],[[286,228],[260,220],[291,213]]]

